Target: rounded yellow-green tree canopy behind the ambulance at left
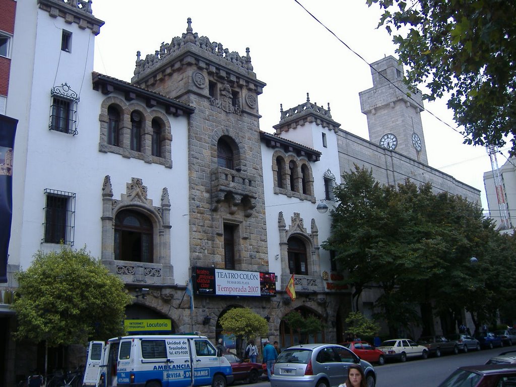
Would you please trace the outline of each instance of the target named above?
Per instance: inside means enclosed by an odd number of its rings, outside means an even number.
[[[16,338],[49,346],[86,344],[123,333],[125,307],[133,297],[85,250],[38,251],[17,275]]]

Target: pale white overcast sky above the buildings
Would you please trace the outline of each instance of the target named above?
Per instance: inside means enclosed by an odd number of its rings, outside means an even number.
[[[191,18],[194,33],[224,49],[245,56],[249,47],[256,77],[267,84],[258,97],[262,131],[273,133],[280,104],[297,106],[309,93],[312,103],[330,104],[343,130],[368,139],[359,100],[359,92],[373,86],[368,63],[396,56],[392,37],[377,28],[379,7],[367,7],[366,0],[298,1],[355,53],[294,0],[93,0],[93,15],[105,22],[95,38],[94,71],[130,82],[136,52],[154,54],[162,42],[185,33]],[[461,134],[434,117],[458,130],[445,100],[425,102],[425,108],[428,164],[480,189],[487,210],[482,177],[491,163],[485,148],[463,144]],[[498,156],[499,166],[505,161]]]

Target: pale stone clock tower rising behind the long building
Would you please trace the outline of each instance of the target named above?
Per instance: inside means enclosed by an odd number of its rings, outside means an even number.
[[[359,94],[362,112],[367,116],[369,140],[428,164],[421,92],[407,94],[403,66],[396,58],[388,56],[371,66],[373,87]]]

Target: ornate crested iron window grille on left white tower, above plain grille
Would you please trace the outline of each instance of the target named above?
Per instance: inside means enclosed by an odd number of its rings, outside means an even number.
[[[77,131],[77,103],[79,97],[67,83],[53,87],[50,91],[52,106],[50,107],[49,129],[62,133],[76,135]]]

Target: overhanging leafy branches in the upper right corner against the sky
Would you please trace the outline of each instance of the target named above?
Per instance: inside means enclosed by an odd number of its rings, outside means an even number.
[[[407,82],[426,84],[425,99],[449,93],[448,108],[470,135],[465,143],[516,152],[516,3],[506,0],[367,0],[384,13]]]

